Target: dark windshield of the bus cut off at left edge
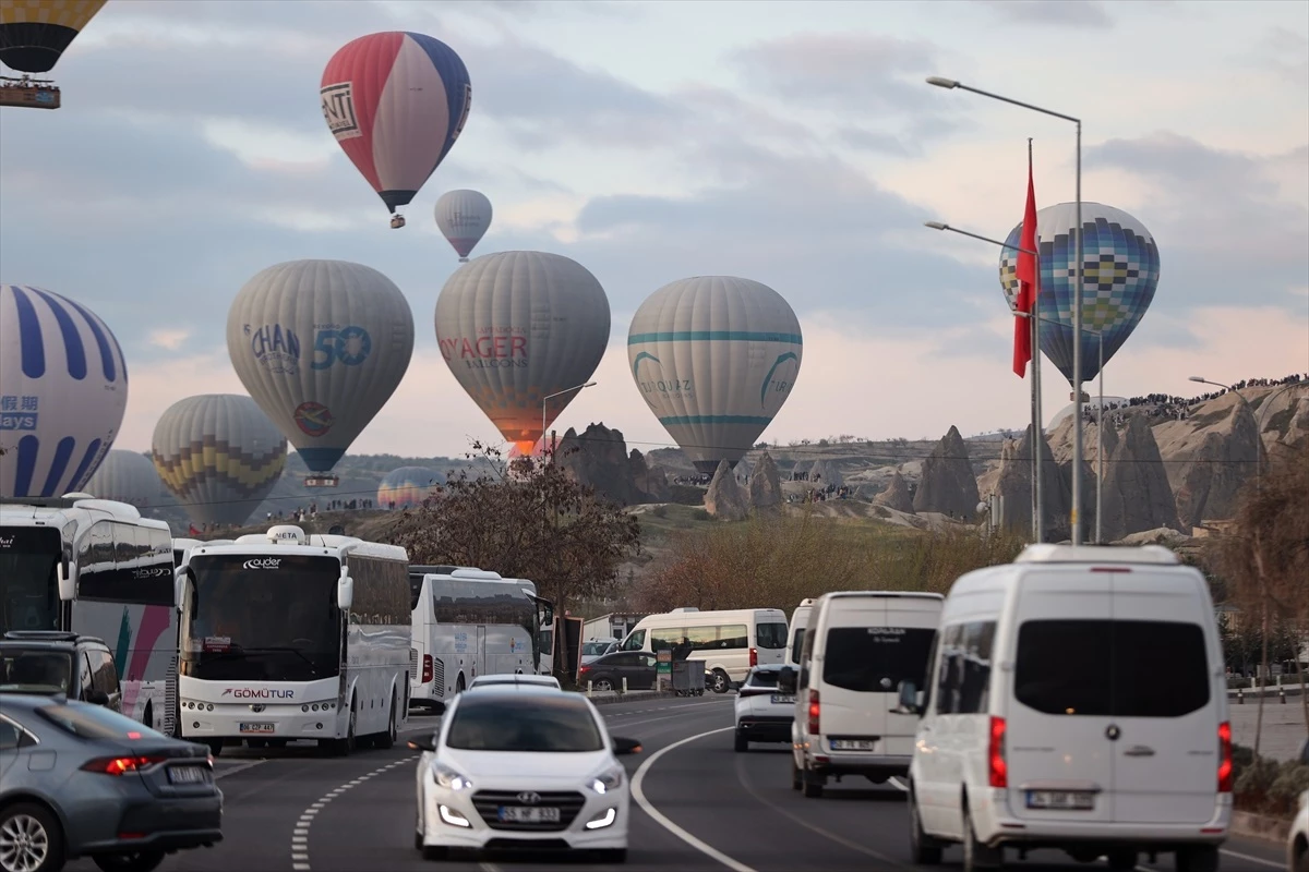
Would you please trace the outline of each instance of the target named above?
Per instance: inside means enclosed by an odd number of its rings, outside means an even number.
[[[0,527],[0,634],[60,629],[55,565],[62,546],[50,527]]]

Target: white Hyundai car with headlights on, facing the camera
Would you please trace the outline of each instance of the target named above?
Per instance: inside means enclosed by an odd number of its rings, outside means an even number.
[[[450,848],[526,850],[564,842],[597,859],[627,859],[631,792],[589,699],[525,684],[469,689],[444,710],[437,732],[410,741],[418,763],[414,847],[428,860]]]

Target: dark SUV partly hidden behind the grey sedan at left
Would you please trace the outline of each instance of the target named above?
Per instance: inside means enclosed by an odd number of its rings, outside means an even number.
[[[63,694],[122,711],[114,655],[103,639],[59,630],[10,630],[0,639],[0,693]]]

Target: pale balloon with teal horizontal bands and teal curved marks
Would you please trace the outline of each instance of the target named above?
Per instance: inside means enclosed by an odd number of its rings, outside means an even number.
[[[700,472],[736,465],[791,396],[800,322],[749,278],[698,276],[651,294],[627,335],[627,362],[651,411]]]

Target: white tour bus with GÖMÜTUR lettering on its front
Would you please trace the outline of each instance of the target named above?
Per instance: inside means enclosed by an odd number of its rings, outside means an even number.
[[[177,570],[182,737],[215,756],[390,748],[408,716],[408,556],[292,524],[202,543]]]

